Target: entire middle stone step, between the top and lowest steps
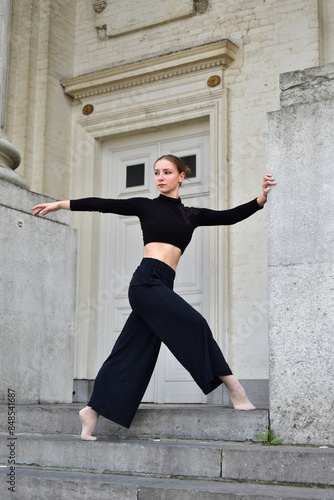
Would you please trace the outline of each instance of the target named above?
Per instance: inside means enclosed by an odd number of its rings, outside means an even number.
[[[334,486],[334,448],[218,441],[108,440],[17,435],[19,466],[290,485]],[[2,443],[10,438],[1,436]],[[6,464],[2,447],[0,461]]]

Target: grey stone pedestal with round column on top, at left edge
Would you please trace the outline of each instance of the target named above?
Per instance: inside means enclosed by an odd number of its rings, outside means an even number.
[[[32,217],[45,201],[15,172],[7,139],[6,88],[11,2],[0,2],[0,402],[71,402],[76,234],[69,213]]]

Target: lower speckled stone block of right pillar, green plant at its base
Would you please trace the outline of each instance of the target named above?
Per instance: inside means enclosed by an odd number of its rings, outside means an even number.
[[[269,282],[272,428],[286,443],[333,444],[333,265],[271,267]]]

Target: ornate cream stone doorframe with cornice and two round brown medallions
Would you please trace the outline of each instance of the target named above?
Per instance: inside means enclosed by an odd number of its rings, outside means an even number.
[[[210,205],[226,208],[226,89],[224,70],[234,61],[237,47],[229,40],[192,47],[179,52],[80,75],[62,82],[66,94],[77,102],[74,108],[72,197],[99,196],[101,144],[107,138],[163,130],[182,123],[209,118]],[[73,214],[79,230],[76,378],[96,373],[99,307],[98,219],[94,214]],[[212,229],[211,324],[227,331],[227,318],[219,314],[226,293],[224,231]],[[100,293],[100,295],[99,295]],[[219,342],[227,348],[225,338]],[[90,354],[90,358],[88,357]]]

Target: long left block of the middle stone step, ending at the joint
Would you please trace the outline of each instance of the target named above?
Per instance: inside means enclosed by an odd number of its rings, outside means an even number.
[[[18,436],[17,464],[159,477],[220,477],[221,447],[175,441]]]

